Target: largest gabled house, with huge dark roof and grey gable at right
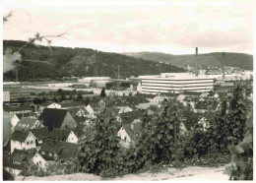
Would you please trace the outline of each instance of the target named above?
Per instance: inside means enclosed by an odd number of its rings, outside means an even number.
[[[48,127],[49,131],[53,128],[73,129],[78,125],[66,109],[44,108],[40,115],[40,120],[43,121],[44,126]]]

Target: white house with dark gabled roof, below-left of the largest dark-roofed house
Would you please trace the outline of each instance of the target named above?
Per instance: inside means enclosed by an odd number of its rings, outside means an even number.
[[[36,138],[30,131],[14,131],[11,136],[11,153],[17,150],[35,149]]]

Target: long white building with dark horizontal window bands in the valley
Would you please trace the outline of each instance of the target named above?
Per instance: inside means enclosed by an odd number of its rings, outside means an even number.
[[[142,93],[163,93],[182,91],[212,91],[214,77],[195,76],[188,73],[161,73],[155,76],[140,76]]]

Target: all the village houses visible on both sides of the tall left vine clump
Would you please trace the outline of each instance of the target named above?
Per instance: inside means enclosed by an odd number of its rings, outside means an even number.
[[[118,96],[116,120],[120,123],[117,132],[120,144],[129,148],[140,133],[145,111],[154,114],[153,108],[160,107],[164,100],[175,98],[183,107],[180,129],[186,133],[195,124],[207,128],[210,125],[207,113],[220,110],[227,97],[227,93],[220,95],[212,91]],[[11,139],[4,145],[5,169],[18,175],[29,161],[45,168],[48,163],[74,157],[88,121],[96,118],[100,102],[103,100],[87,106],[80,101],[4,106],[12,116]]]

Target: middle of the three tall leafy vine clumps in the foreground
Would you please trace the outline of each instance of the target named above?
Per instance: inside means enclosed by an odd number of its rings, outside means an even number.
[[[142,130],[131,158],[134,170],[169,163],[175,159],[180,127],[180,110],[175,101],[163,103],[159,113],[145,114]]]

